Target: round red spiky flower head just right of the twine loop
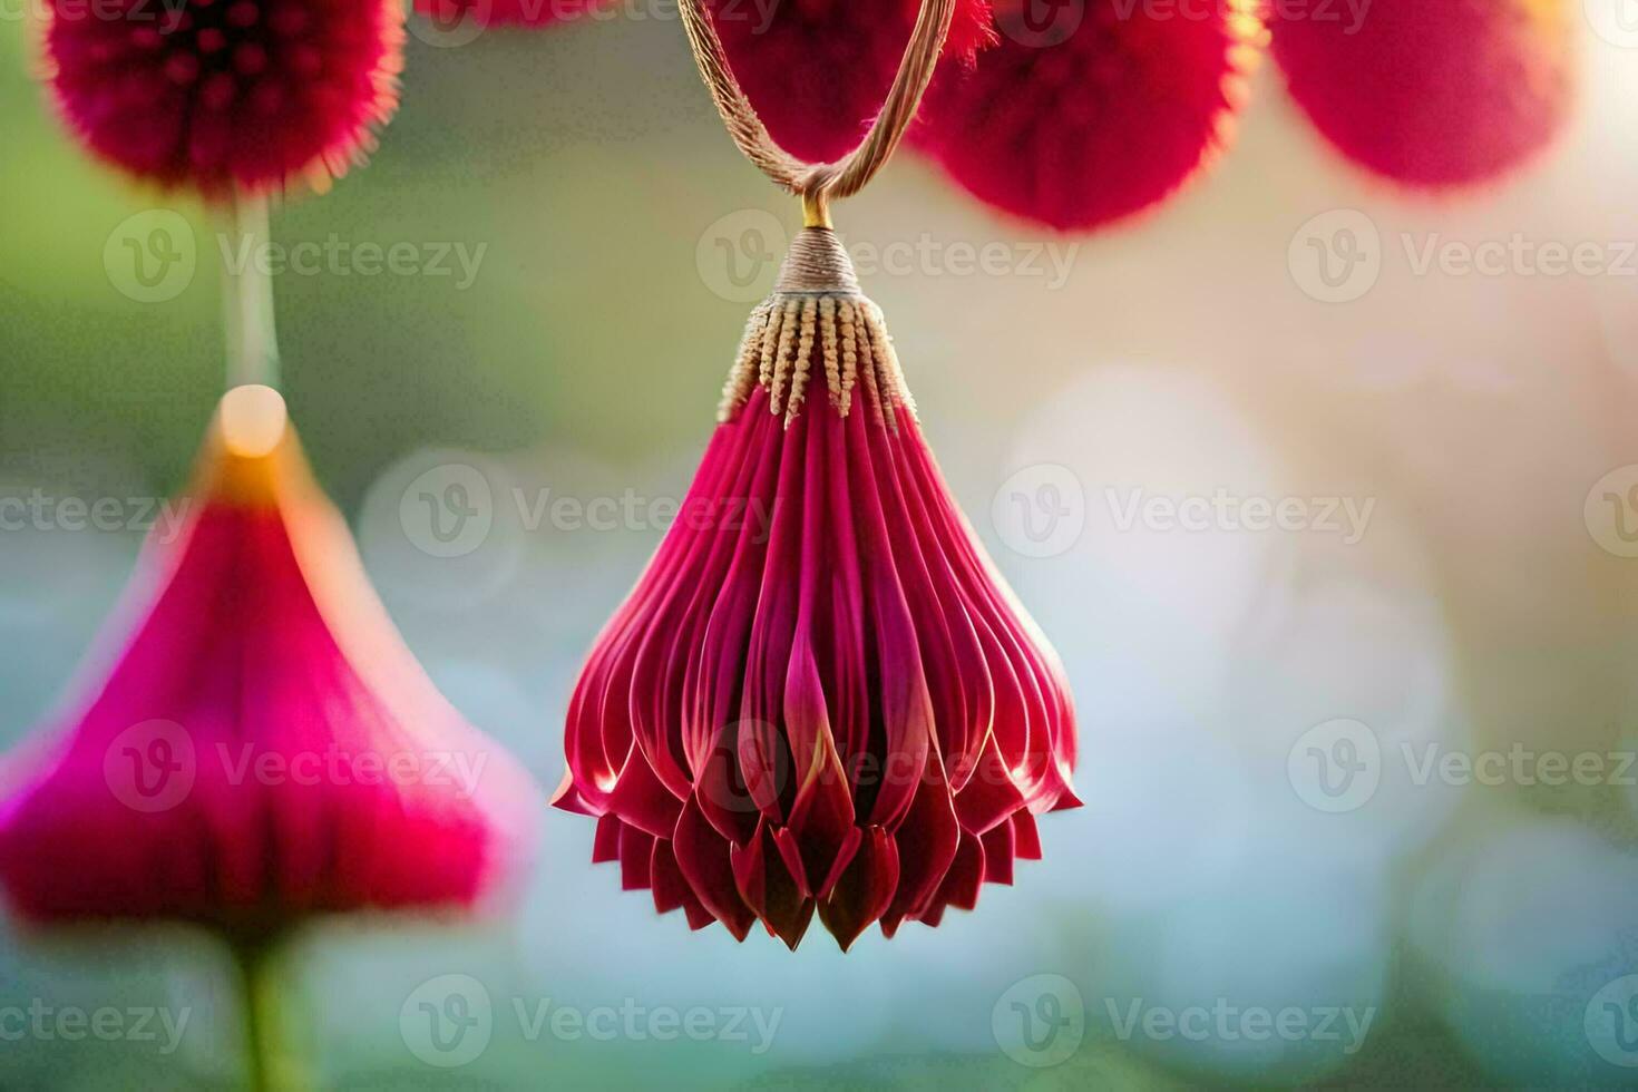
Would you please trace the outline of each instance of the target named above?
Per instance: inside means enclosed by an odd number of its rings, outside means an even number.
[[[1238,0],[996,0],[1001,43],[939,74],[917,147],[1004,213],[1089,231],[1150,208],[1232,136],[1258,23]]]

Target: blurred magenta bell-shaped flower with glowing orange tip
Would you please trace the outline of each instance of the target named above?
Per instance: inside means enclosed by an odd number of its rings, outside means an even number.
[[[0,805],[16,910],[272,935],[514,878],[529,778],[398,640],[278,395],[223,399],[185,506],[134,630]]]

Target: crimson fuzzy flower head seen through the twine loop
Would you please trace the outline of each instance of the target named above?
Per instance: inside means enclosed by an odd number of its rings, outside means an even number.
[[[852,151],[881,108],[922,0],[708,0],[734,75],[780,147],[811,162]],[[989,0],[958,0],[943,56],[993,41]]]

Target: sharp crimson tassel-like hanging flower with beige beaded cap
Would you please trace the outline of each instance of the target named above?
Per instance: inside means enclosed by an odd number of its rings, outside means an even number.
[[[1078,802],[1075,714],[834,232],[798,237],[721,421],[580,676],[555,804],[695,928],[937,925]]]

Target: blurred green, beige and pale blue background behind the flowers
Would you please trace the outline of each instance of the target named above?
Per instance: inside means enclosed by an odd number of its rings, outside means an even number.
[[[773,277],[758,257],[796,223],[721,133],[675,13],[639,7],[460,47],[411,38],[403,108],[369,167],[274,214],[283,244],[482,247],[465,288],[357,268],[275,278],[285,391],[410,645],[545,787],[578,658],[663,529],[531,527],[511,498],[629,496],[650,512],[680,496]],[[216,226],[82,159],[18,15],[0,20],[0,498],[164,496],[221,390]],[[791,954],[655,918],[588,864],[591,824],[542,807],[541,861],[505,927],[337,927],[292,953],[319,1081],[1638,1082],[1638,769],[1623,765],[1638,748],[1638,275],[1414,262],[1448,242],[1618,254],[1638,239],[1638,52],[1589,29],[1581,54],[1559,146],[1461,200],[1351,172],[1268,70],[1222,162],[1091,239],[999,221],[903,156],[839,228],[917,255],[863,270],[867,291],[952,488],[1066,660],[1088,807],[1043,820],[1045,861],[978,912],[868,935],[845,958],[817,935]],[[141,303],[108,254],[152,210],[188,221],[198,260],[179,295]],[[1340,213],[1376,232],[1379,268],[1360,298],[1324,303],[1305,236]],[[953,257],[991,244],[1006,272]],[[755,273],[744,293],[735,270]],[[416,550],[400,509],[449,462],[478,467],[495,506],[482,548],[452,560]],[[1369,516],[1358,535],[1122,521],[1132,496],[1219,493]],[[1042,537],[1040,519],[1068,522]],[[134,532],[0,532],[0,742],[66,697],[138,547]],[[1379,758],[1374,791],[1327,810],[1307,761],[1338,720],[1364,725]],[[1427,773],[1450,755],[1522,765]],[[1590,755],[1600,773],[1548,784],[1545,755]],[[490,1004],[472,1058],[414,1028],[416,1000],[450,990]],[[534,1035],[542,1004],[732,1010],[749,1036]],[[190,1022],[169,1053],[11,1036],[7,1013],[29,1005]],[[7,932],[0,1085],[231,1085],[233,1005],[197,938]],[[1240,1015],[1220,1023],[1225,1009]],[[1307,1031],[1258,1035],[1247,1010],[1296,1010]],[[778,1020],[768,1041],[755,1015]]]

